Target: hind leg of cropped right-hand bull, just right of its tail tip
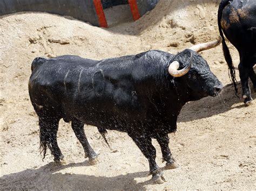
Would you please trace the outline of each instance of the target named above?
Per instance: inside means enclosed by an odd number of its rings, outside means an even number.
[[[245,62],[240,62],[238,65],[239,68],[239,76],[242,85],[242,98],[244,98],[245,105],[250,105],[252,102],[251,89],[249,87],[249,76],[250,69],[244,66]]]

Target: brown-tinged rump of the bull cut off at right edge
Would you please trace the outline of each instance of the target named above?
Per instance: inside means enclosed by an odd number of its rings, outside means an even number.
[[[256,1],[234,0],[222,12],[221,27],[227,39],[241,53],[255,52]]]

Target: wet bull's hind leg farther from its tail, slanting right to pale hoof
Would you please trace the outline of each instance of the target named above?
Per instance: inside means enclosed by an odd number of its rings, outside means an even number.
[[[80,121],[72,121],[71,123],[72,129],[75,132],[76,137],[78,138],[79,142],[82,144],[85,152],[85,158],[89,157],[89,163],[91,165],[97,164],[97,154],[93,151],[91,145],[89,144],[85,133],[84,133],[84,123]]]

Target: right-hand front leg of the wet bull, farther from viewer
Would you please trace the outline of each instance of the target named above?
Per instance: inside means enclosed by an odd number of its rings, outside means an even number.
[[[178,168],[179,165],[172,157],[171,150],[169,148],[169,136],[168,134],[165,135],[158,135],[157,142],[159,143],[161,147],[161,152],[163,155],[163,161],[166,161],[165,168],[166,169],[174,169]]]

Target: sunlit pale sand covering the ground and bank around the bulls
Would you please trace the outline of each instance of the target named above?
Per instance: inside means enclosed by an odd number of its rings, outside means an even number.
[[[129,15],[122,17],[126,23],[116,22],[110,14],[113,25],[109,29],[48,13],[1,17],[1,189],[255,189],[255,104],[244,108],[242,100],[234,97],[220,47],[202,55],[227,85],[225,103],[207,97],[186,105],[178,133],[170,135],[170,148],[182,168],[165,171],[169,181],[163,185],[152,185],[146,159],[125,133],[109,132],[109,143],[118,150],[112,153],[96,128],[85,128],[100,154],[96,166],[84,162],[82,146],[70,124],[63,121],[58,143],[66,165],[49,164],[53,160],[50,154],[43,162],[38,151],[38,119],[28,95],[31,61],[36,56],[76,54],[103,59],[148,49],[176,53],[218,36],[218,3],[161,0],[137,22],[131,22]],[[238,55],[231,50],[237,63]],[[255,93],[252,96],[256,98]],[[160,148],[153,143],[157,162],[164,166]]]

